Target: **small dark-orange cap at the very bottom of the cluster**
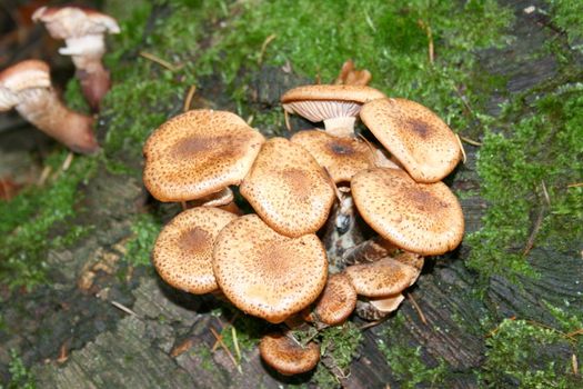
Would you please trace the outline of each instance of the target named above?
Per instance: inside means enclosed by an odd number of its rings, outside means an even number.
[[[320,361],[320,346],[314,342],[302,347],[282,333],[271,333],[259,343],[261,358],[282,375],[300,375],[315,368]]]

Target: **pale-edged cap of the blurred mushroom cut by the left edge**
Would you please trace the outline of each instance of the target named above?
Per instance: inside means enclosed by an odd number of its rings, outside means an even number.
[[[0,111],[14,108],[21,91],[50,87],[50,69],[46,62],[33,59],[18,62],[0,72]]]

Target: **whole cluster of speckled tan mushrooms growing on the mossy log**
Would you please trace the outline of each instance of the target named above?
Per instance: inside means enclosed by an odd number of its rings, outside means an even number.
[[[359,305],[375,312],[370,318],[386,315],[415,282],[422,256],[452,250],[463,236],[460,203],[440,182],[461,158],[455,134],[428,108],[362,84],[366,77],[282,97],[285,112],[323,121],[325,130],[265,140],[233,113],[192,110],[144,146],[148,190],[161,201],[195,203],[161,231],[158,272],[175,288],[218,293],[245,313],[285,323],[260,343],[265,362],[285,375],[309,371],[320,358],[315,342],[291,336],[292,322],[336,326]],[[359,117],[390,158],[354,136]],[[240,186],[257,213],[232,211],[230,186]],[[382,238],[355,248],[375,255],[343,270],[329,266],[315,235],[336,199],[353,199]]]

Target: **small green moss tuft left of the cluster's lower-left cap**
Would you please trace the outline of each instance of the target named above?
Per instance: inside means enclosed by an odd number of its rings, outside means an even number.
[[[141,213],[132,223],[133,237],[128,241],[123,259],[133,266],[151,266],[152,250],[162,223],[154,215]]]

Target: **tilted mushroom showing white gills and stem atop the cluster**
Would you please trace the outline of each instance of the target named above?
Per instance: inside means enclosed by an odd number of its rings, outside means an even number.
[[[324,122],[326,132],[354,137],[354,123],[363,103],[385,96],[371,87],[315,84],[298,87],[281,97],[283,109],[313,122]]]

